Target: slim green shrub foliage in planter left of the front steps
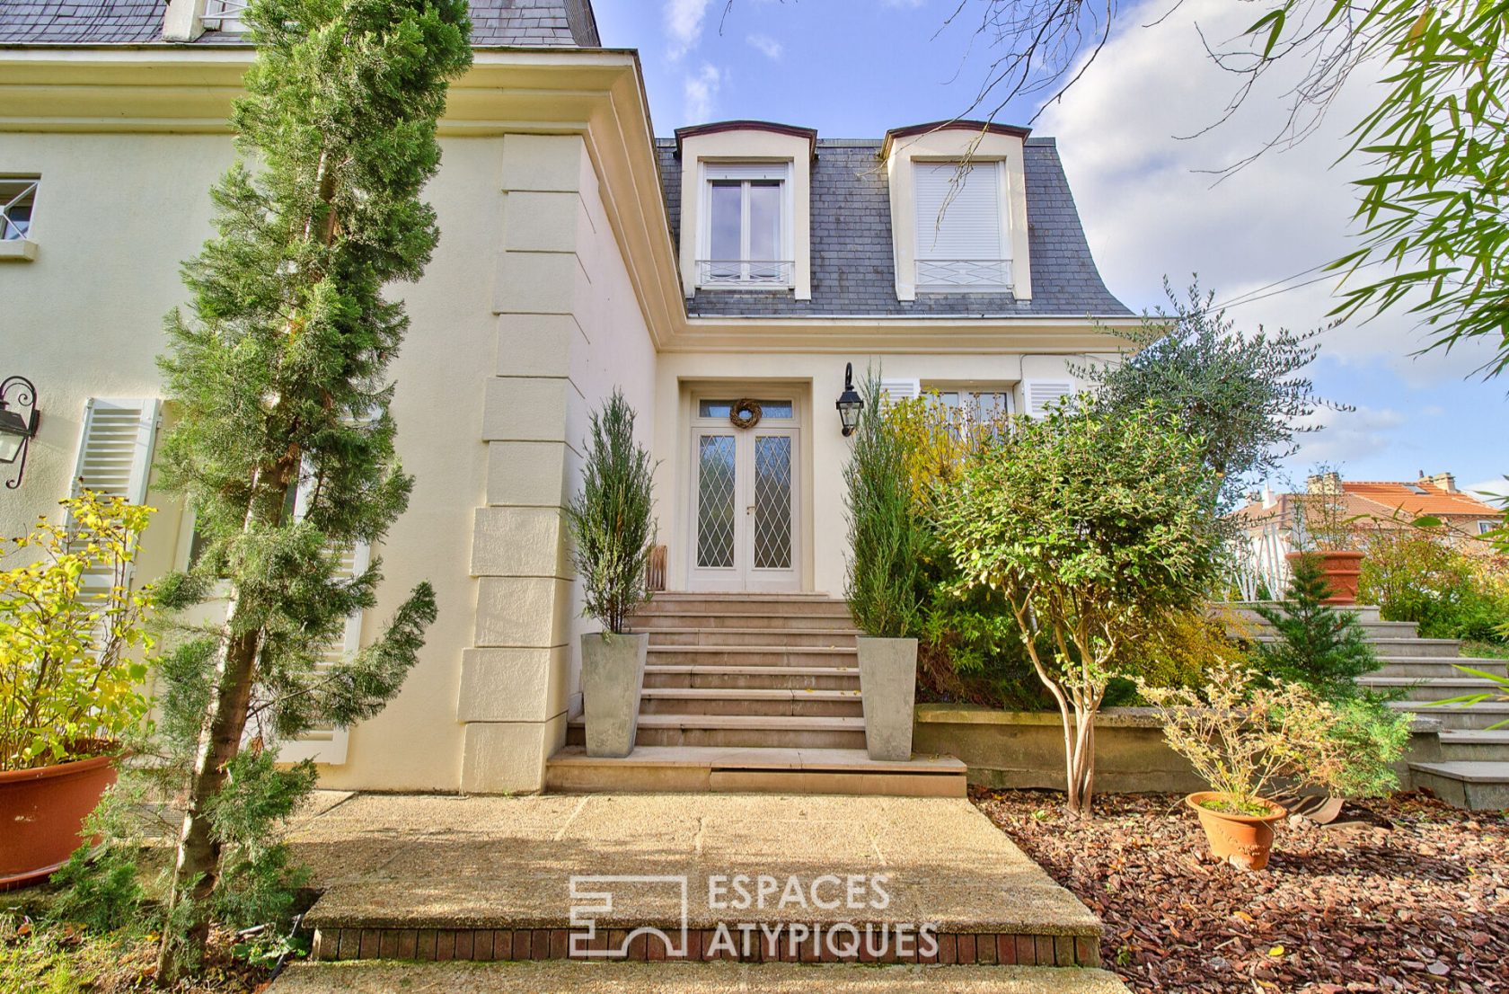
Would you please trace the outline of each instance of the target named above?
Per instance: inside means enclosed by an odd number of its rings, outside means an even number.
[[[634,408],[614,390],[592,415],[581,492],[566,508],[582,613],[622,633],[644,603],[644,568],[655,547],[655,467],[634,440]]]

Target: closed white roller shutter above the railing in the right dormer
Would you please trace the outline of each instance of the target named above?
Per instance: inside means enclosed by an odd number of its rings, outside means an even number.
[[[975,162],[963,172],[957,162],[913,163],[917,258],[1005,257],[1000,251],[999,171],[994,162]]]

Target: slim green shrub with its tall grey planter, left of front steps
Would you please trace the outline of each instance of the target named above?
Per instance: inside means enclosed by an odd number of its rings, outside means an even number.
[[[581,492],[566,508],[582,615],[602,622],[602,631],[581,636],[587,755],[625,757],[638,731],[649,636],[629,634],[628,622],[649,598],[653,473],[649,453],[634,440],[634,408],[614,390],[592,415]]]

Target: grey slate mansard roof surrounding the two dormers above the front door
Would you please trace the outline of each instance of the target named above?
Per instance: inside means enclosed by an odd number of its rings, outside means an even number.
[[[676,139],[655,139],[672,239],[681,228],[681,160]],[[697,290],[693,317],[869,316],[1061,316],[1130,314],[1100,279],[1074,208],[1058,147],[1050,137],[1025,145],[1028,252],[1032,299],[1010,293],[919,293],[896,299],[890,240],[890,187],[880,139],[818,139],[812,163],[812,299],[770,290]]]

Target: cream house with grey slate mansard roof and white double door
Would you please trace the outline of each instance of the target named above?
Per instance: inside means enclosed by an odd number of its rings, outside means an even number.
[[[193,542],[151,470],[175,417],[154,358],[234,156],[225,121],[254,54],[240,6],[0,6],[0,376],[35,382],[41,412],[0,533],[80,479],[146,502],[137,582]],[[1031,412],[1135,320],[1049,137],[724,121],[656,139],[638,54],[601,45],[587,0],[474,0],[472,20],[429,189],[441,245],[392,290],[412,319],[394,414],[418,483],[344,648],[421,579],[439,619],[380,716],[287,743],[335,789],[542,787],[590,630],[561,506],[614,387],[658,461],[668,589],[842,597],[847,366],[881,370],[892,396]],[[729,418],[742,400],[761,408],[748,429]]]

